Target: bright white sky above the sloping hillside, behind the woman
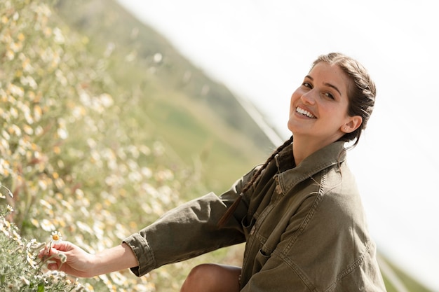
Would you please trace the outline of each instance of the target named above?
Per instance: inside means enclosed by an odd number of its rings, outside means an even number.
[[[349,152],[378,249],[439,291],[439,18],[434,1],[118,0],[288,139],[318,55],[360,61],[377,100]],[[159,53],[159,52],[158,52]]]

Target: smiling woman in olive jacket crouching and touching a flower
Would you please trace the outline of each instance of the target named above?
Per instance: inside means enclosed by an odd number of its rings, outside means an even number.
[[[242,268],[199,265],[181,291],[386,291],[345,161],[345,144],[358,143],[375,93],[358,62],[322,55],[291,97],[294,142],[285,141],[229,191],[187,202],[96,255],[62,242],[40,256],[65,253],[60,268],[76,277],[128,267],[140,276],[245,242]]]

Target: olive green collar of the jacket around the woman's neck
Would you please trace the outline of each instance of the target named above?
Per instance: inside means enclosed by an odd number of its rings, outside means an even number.
[[[343,150],[344,141],[336,141],[312,153],[296,166],[292,153],[292,144],[283,148],[275,156],[278,167],[278,182],[283,193],[288,193],[297,183],[308,179],[323,169],[343,162],[346,158],[346,153]]]

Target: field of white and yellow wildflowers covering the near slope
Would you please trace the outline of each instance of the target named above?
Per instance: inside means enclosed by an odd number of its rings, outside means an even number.
[[[91,57],[55,17],[41,1],[0,3],[0,290],[175,291],[194,261],[71,279],[36,258],[53,232],[90,252],[119,244],[202,188],[128,118],[106,73],[111,50]]]

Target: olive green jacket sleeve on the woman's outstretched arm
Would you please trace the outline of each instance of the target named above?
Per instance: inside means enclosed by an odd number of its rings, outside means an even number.
[[[245,205],[222,228],[217,223],[226,209],[236,200],[252,172],[236,181],[218,197],[208,193],[191,200],[161,216],[156,222],[123,240],[135,253],[138,267],[131,270],[137,276],[151,270],[203,253],[245,241],[241,216]]]

